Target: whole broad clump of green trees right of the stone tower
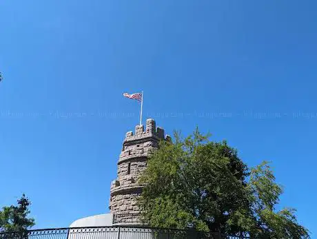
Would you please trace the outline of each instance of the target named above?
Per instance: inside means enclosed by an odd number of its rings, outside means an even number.
[[[143,218],[154,227],[308,238],[294,209],[275,211],[282,193],[267,163],[249,170],[225,141],[209,141],[198,129],[187,138],[162,141],[141,176]]]

